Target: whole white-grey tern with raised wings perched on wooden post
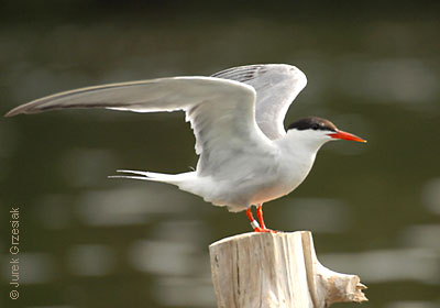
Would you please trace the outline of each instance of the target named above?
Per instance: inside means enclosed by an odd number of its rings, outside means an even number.
[[[230,211],[246,210],[257,232],[270,232],[263,202],[292,193],[314,165],[318,150],[331,140],[365,142],[328,120],[310,117],[283,121],[307,84],[295,66],[249,65],[211,77],[170,77],[81,88],[22,105],[7,117],[66,108],[107,108],[133,112],[183,110],[196,135],[200,156],[194,172],[160,174],[118,170],[125,178],[176,185]],[[257,207],[254,220],[251,206]]]

